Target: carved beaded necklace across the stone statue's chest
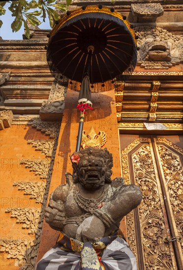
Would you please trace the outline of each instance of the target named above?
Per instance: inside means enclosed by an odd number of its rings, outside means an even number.
[[[95,209],[99,208],[100,203],[105,202],[107,197],[107,189],[108,187],[105,186],[102,194],[98,198],[88,199],[81,195],[78,185],[75,185],[73,195],[78,206],[84,209],[86,212],[90,212],[92,214]]]

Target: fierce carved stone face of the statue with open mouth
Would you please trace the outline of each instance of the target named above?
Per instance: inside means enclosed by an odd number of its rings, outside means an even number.
[[[105,183],[107,169],[103,158],[85,156],[78,162],[79,183],[86,189],[98,189]]]

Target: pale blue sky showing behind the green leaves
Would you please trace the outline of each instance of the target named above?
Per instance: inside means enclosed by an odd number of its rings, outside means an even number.
[[[7,3],[6,6],[4,6],[4,8],[6,9],[6,13],[5,15],[0,16],[0,19],[3,22],[3,25],[0,28],[0,36],[2,37],[2,39],[23,39],[22,35],[24,33],[24,26],[22,26],[18,32],[12,32],[11,24],[14,21],[15,17],[11,16],[11,12],[8,9],[9,5],[10,3]],[[42,18],[40,18],[39,20],[41,21],[41,19]],[[38,27],[40,29],[51,29],[49,20],[46,20],[45,23],[42,23]]]

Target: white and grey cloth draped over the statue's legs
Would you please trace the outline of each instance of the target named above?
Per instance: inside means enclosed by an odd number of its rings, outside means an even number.
[[[90,257],[88,257],[83,268],[80,252],[64,251],[54,246],[37,263],[35,270],[137,270],[135,256],[128,244],[120,237],[107,245],[100,261],[102,266],[96,265],[93,268],[90,267]]]

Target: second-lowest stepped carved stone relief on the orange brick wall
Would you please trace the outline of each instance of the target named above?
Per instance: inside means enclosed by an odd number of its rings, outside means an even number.
[[[37,208],[7,208],[5,213],[11,213],[11,217],[17,219],[16,223],[21,223],[22,229],[29,230],[28,234],[37,232],[40,209]]]

